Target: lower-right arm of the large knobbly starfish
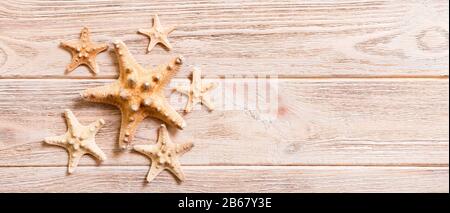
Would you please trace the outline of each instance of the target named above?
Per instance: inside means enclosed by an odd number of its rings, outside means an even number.
[[[159,110],[158,110],[159,109]],[[167,100],[163,100],[157,103],[156,110],[158,113],[154,113],[153,117],[156,117],[178,129],[186,127],[186,121],[178,114],[172,106],[169,105]]]

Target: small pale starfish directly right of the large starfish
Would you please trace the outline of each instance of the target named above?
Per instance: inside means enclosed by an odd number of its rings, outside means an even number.
[[[205,105],[209,110],[214,110],[214,104],[211,102],[208,92],[216,87],[217,84],[215,83],[203,84],[201,70],[194,67],[191,85],[189,87],[177,86],[174,90],[188,96],[188,102],[184,111],[191,112],[194,105],[198,103]]]

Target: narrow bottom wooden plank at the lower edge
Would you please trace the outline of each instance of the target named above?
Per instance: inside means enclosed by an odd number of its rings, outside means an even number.
[[[0,192],[446,192],[448,167],[184,167],[146,183],[148,167],[0,167]]]

